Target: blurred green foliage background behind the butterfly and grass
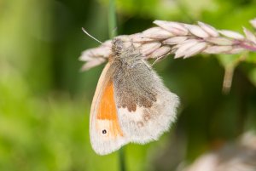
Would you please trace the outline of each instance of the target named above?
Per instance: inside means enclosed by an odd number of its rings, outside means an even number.
[[[197,20],[218,29],[252,30],[255,0],[118,0],[119,34],[143,31],[153,20]],[[79,72],[78,58],[108,39],[107,0],[0,0],[0,170],[119,170],[115,152],[90,147],[90,101],[103,66]],[[159,141],[126,145],[132,170],[175,170],[183,162],[256,129],[256,55],[235,69],[230,94],[224,69],[238,55],[172,56],[155,70],[182,102],[177,122]],[[233,65],[234,66],[234,65]]]

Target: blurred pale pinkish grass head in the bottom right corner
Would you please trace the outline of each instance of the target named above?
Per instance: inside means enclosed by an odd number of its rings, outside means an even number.
[[[243,134],[239,140],[197,158],[180,171],[253,171],[256,170],[256,135]]]

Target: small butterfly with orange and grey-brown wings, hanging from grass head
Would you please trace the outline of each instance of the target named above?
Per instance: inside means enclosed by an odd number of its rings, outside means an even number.
[[[111,51],[90,108],[90,143],[99,155],[158,140],[179,105],[131,41],[116,37]]]

